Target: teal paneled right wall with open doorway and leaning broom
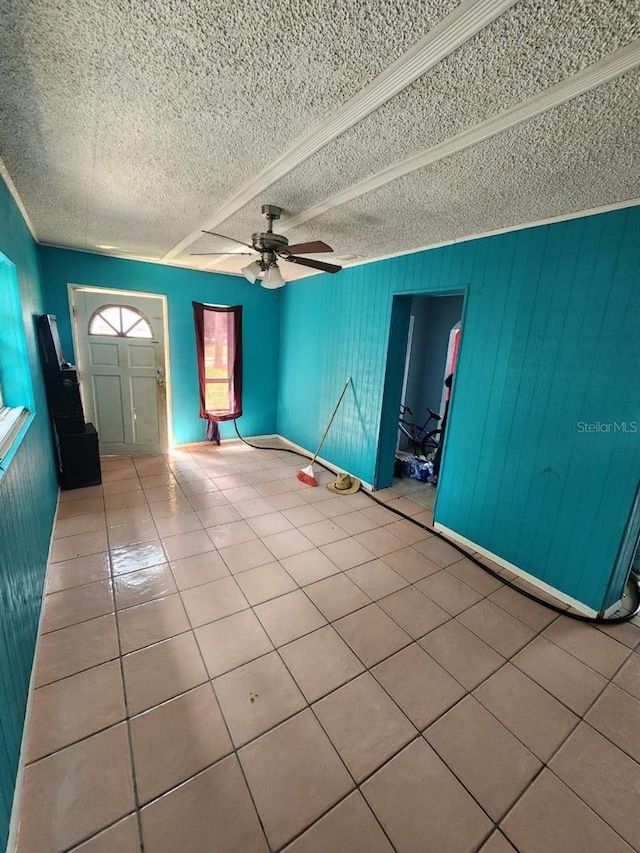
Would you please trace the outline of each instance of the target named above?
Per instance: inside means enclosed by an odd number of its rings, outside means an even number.
[[[640,432],[602,431],[640,429],[639,234],[635,207],[288,285],[278,431],[314,448],[351,376],[322,455],[372,482],[380,444],[386,485],[393,297],[466,291],[436,519],[599,609],[640,475]]]

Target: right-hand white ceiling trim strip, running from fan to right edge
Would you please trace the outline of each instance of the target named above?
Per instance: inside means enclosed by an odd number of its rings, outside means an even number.
[[[385,184],[392,183],[405,175],[409,175],[411,172],[437,163],[439,160],[463,151],[465,148],[471,148],[480,142],[490,139],[492,136],[503,133],[509,128],[561,106],[580,95],[584,95],[586,92],[631,71],[639,64],[640,39],[636,39],[636,41],[631,42],[626,47],[620,48],[620,50],[609,56],[605,56],[593,65],[589,65],[587,68],[577,71],[559,83],[549,86],[548,89],[538,92],[537,95],[533,95],[533,97],[509,107],[509,109],[457,133],[450,139],[445,139],[444,142],[440,142],[438,145],[427,148],[425,151],[420,152],[420,154],[415,154],[412,157],[407,157],[406,160],[401,160],[399,163],[388,166],[375,175],[371,175],[363,181],[358,181],[358,183],[347,187],[347,189],[336,193],[334,196],[307,208],[307,210],[303,210],[297,216],[292,216],[290,219],[284,220],[278,226],[279,230],[286,233],[292,228],[297,228],[305,222],[309,222],[311,219],[315,219],[317,216],[326,213],[328,210],[332,210],[334,207],[340,207],[349,201],[353,201],[360,196],[379,189]]]

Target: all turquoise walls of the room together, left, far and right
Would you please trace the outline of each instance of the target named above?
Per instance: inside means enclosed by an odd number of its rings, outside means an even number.
[[[632,208],[269,293],[235,277],[62,249],[37,253],[0,183],[0,251],[18,271],[23,367],[37,412],[0,478],[0,842],[10,816],[57,495],[34,315],[58,316],[71,357],[68,283],[166,294],[175,440],[185,442],[203,435],[191,301],[242,304],[241,429],[277,429],[315,449],[350,376],[352,388],[322,455],[382,486],[393,456],[410,311],[409,299],[397,297],[466,293],[436,519],[599,609],[619,592],[610,589],[605,600],[640,474],[640,433],[607,428],[626,422],[633,430],[640,423],[638,233],[640,208]],[[594,431],[579,424],[593,424]]]

